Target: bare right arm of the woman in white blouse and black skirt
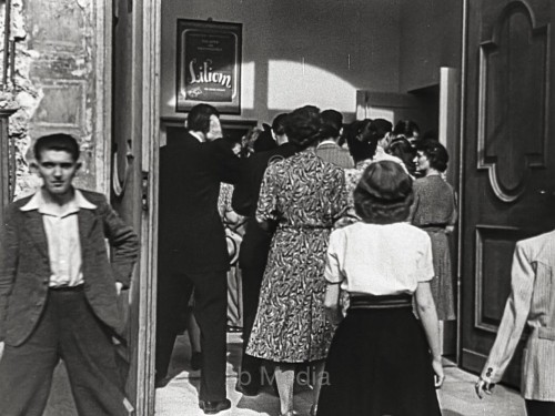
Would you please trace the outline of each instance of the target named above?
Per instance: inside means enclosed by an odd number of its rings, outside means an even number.
[[[418,312],[427,344],[432,352],[432,366],[435,372],[435,386],[441,387],[445,375],[443,374],[442,353],[440,349],[440,325],[437,322],[437,311],[434,298],[430,290],[430,282],[420,282],[415,293],[416,307]]]

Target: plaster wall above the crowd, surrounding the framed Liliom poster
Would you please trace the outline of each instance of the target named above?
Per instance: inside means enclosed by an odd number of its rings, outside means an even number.
[[[355,91],[398,90],[400,0],[164,0],[161,115],[175,113],[176,19],[243,23],[242,113],[271,121],[303,104],[353,119]]]

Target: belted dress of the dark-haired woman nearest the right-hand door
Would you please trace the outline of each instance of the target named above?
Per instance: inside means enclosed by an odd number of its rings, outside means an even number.
[[[440,175],[417,179],[413,184],[414,204],[411,210],[413,225],[426,231],[432,240],[435,277],[432,294],[441,321],[455,319],[453,270],[445,227],[457,219],[455,192]]]

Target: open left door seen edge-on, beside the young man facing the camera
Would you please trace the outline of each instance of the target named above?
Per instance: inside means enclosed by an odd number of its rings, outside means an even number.
[[[111,202],[140,234],[141,256],[120,301],[127,311],[127,394],[153,412],[160,1],[113,2]]]

